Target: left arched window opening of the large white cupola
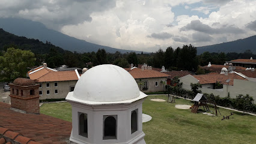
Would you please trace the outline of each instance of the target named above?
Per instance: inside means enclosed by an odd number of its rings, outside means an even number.
[[[78,113],[79,115],[79,135],[88,137],[88,122],[86,113]]]

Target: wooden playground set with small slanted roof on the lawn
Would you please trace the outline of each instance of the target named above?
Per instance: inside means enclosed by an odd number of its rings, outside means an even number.
[[[197,113],[198,108],[200,106],[203,106],[204,110],[206,110],[206,112],[210,112],[209,106],[207,105],[207,103],[212,104],[214,106],[214,110],[213,110],[213,115],[214,113],[216,113],[216,116],[218,116],[218,112],[219,111],[217,104],[214,101],[208,101],[206,97],[204,97],[204,94],[200,94],[198,93],[195,98],[193,99],[193,101],[195,101],[194,105],[192,106],[192,113]],[[221,112],[219,112],[219,114],[221,115]]]

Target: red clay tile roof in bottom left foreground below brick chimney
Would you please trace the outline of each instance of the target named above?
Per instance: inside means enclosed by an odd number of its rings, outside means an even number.
[[[63,140],[69,139],[72,122],[43,114],[14,112],[10,107],[10,104],[0,102],[0,125],[4,127],[0,126],[0,138],[2,134],[4,138],[28,144],[37,144],[30,139],[38,143],[66,143]],[[4,140],[0,139],[0,142]]]

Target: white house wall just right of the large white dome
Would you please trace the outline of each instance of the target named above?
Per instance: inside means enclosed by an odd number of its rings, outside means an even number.
[[[136,82],[139,82],[139,79],[135,79]],[[147,82],[148,85],[148,89],[147,90],[142,90],[143,89],[143,85],[141,86],[140,91],[142,92],[159,92],[159,91],[165,91],[165,87],[163,88],[163,83],[161,83],[161,80],[163,82],[165,82],[166,85],[166,80],[167,77],[153,77],[153,78],[147,78],[147,79],[141,79],[142,82]],[[158,82],[158,86],[156,86],[156,82]]]

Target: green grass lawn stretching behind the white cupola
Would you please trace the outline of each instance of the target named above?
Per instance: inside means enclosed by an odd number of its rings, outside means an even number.
[[[176,98],[176,103],[150,101],[151,98],[167,99],[165,96],[148,96],[143,103],[143,113],[152,116],[143,124],[147,144],[155,143],[256,143],[256,116],[234,112],[232,119],[221,121],[222,116],[207,116],[175,108],[175,104],[191,101]],[[69,103],[43,104],[40,112],[45,115],[72,121]],[[212,108],[210,108],[213,110]],[[222,115],[230,110],[219,109]]]

